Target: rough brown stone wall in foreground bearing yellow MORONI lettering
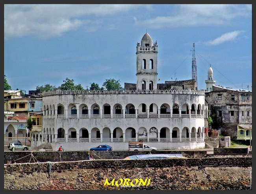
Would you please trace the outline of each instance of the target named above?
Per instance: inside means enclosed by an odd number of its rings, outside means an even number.
[[[138,189],[251,190],[252,157],[4,164],[4,190]]]

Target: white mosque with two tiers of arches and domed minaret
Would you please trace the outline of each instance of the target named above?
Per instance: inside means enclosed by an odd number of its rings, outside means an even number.
[[[128,150],[129,141],[158,150],[204,148],[204,91],[195,90],[194,79],[157,83],[158,44],[148,33],[136,56],[137,82],[122,92],[44,92],[41,143],[67,151],[100,144]]]

